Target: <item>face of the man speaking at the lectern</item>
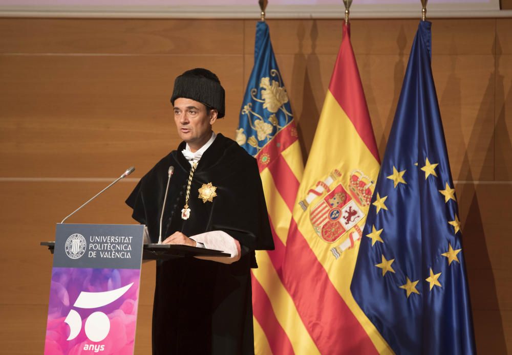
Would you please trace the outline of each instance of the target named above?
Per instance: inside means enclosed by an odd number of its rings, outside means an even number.
[[[217,110],[206,112],[201,102],[178,98],[174,101],[174,122],[180,138],[191,151],[201,148],[211,137],[211,125],[217,120]]]

